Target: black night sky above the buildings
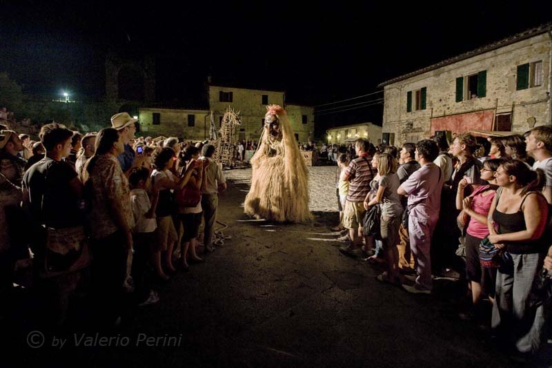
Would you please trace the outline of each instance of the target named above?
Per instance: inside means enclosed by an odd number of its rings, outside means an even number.
[[[3,5],[0,72],[26,93],[100,97],[106,52],[152,54],[160,101],[192,103],[211,75],[214,84],[286,90],[288,103],[315,106],[552,21],[552,1],[232,2]],[[339,110],[317,115],[319,128],[382,121],[380,104]]]

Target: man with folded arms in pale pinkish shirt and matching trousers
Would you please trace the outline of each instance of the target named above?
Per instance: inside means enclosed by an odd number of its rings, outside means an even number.
[[[408,195],[408,231],[418,276],[415,285],[403,284],[411,293],[431,293],[431,235],[441,205],[443,177],[440,168],[433,164],[439,148],[435,142],[422,139],[416,144],[415,158],[422,166],[401,184],[397,193]]]

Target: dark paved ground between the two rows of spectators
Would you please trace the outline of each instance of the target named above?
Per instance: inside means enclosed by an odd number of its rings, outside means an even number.
[[[435,296],[412,296],[377,282],[381,270],[337,251],[328,230],[337,218],[328,212],[335,211],[334,171],[311,168],[315,221],[292,225],[249,220],[242,202],[250,170],[226,171],[219,220],[231,240],[205,264],[160,285],[161,302],[130,310],[119,329],[101,333],[112,337],[110,347],[82,346],[86,338],[99,344],[95,331],[79,340],[81,332],[69,328],[61,349],[59,336],[43,333],[44,345],[24,349],[18,366],[511,366],[457,318],[453,283],[438,284]],[[11,342],[25,347],[28,330],[18,332]]]

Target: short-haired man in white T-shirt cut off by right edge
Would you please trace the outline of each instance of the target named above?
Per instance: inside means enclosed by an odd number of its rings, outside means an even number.
[[[533,170],[540,168],[546,177],[542,194],[552,204],[552,127],[537,126],[525,138],[526,150],[535,159]]]

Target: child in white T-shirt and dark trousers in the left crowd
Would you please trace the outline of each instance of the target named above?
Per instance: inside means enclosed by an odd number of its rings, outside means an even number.
[[[132,241],[135,251],[135,260],[132,262],[132,253],[129,252],[130,264],[132,264],[132,276],[135,280],[137,300],[139,305],[153,304],[159,301],[157,293],[146,287],[144,278],[146,275],[146,263],[148,254],[153,251],[155,242],[155,209],[159,200],[159,190],[152,188],[151,202],[146,190],[150,188],[150,171],[147,168],[133,168],[128,177],[130,184],[130,200],[132,201],[132,215],[134,215],[135,227],[132,229]],[[130,271],[127,264],[127,272]]]

